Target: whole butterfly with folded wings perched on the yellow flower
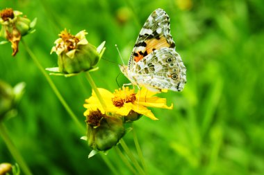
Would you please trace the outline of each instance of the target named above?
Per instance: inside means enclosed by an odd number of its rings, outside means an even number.
[[[170,35],[170,17],[158,8],[149,15],[135,42],[128,66],[119,66],[131,84],[152,91],[181,91],[186,68],[175,51]]]

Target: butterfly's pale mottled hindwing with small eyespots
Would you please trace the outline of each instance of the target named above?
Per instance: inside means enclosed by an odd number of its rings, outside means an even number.
[[[160,48],[143,57],[131,68],[137,84],[148,89],[181,91],[186,82],[186,68],[173,48]]]

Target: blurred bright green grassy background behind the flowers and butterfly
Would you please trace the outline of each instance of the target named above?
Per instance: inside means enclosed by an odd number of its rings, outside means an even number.
[[[57,66],[49,52],[64,28],[88,31],[95,46],[106,41],[97,86],[117,89],[115,78],[156,8],[170,16],[176,51],[187,67],[182,92],[160,96],[173,110],[154,109],[159,120],[135,122],[149,174],[264,174],[264,3],[261,0],[171,1],[0,1],[29,19],[38,18],[36,32],[24,37],[44,67]],[[33,174],[112,174],[101,156],[88,159],[91,149],[43,75],[20,43],[11,56],[10,43],[0,46],[0,79],[12,86],[26,82],[16,118],[5,122],[10,137]],[[114,62],[114,63],[112,63]],[[91,94],[84,75],[51,77],[85,126],[83,103]],[[127,83],[124,76],[119,84]],[[132,151],[132,133],[126,140]],[[108,158],[131,174],[114,149]],[[0,163],[15,163],[0,139]]]

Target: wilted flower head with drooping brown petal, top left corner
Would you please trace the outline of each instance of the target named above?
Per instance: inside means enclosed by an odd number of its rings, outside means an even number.
[[[12,8],[6,8],[0,12],[0,37],[7,39],[12,44],[13,56],[18,52],[18,44],[22,36],[33,33],[37,19],[21,17],[22,12],[14,11]],[[0,42],[5,44],[6,41]]]

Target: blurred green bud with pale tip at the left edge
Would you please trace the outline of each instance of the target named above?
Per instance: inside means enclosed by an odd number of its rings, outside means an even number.
[[[20,83],[15,88],[12,88],[9,84],[0,80],[0,120],[8,112],[13,111],[15,104],[24,92],[24,86],[24,83]]]

